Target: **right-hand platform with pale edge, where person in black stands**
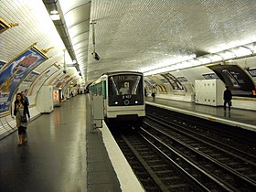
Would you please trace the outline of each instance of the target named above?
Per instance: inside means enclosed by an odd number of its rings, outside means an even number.
[[[187,101],[175,101],[159,98],[155,98],[155,101],[153,101],[152,97],[146,97],[146,104],[165,108],[174,112],[182,112],[201,117],[213,122],[226,123],[256,132],[255,111],[241,110],[231,107],[230,112],[225,112],[223,107],[214,107]]]

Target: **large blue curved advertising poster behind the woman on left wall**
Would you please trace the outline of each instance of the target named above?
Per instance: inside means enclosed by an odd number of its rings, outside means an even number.
[[[37,48],[30,47],[0,71],[0,115],[10,111],[12,98],[20,82],[46,59]]]

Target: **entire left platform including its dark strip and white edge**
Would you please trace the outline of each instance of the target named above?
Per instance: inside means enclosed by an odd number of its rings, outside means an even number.
[[[78,95],[28,123],[27,144],[0,140],[0,191],[144,191],[106,125],[91,129],[90,107]]]

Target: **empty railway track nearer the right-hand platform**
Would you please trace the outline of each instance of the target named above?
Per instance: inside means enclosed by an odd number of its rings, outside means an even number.
[[[226,191],[256,190],[256,167],[251,157],[245,158],[233,154],[225,149],[225,145],[220,147],[220,144],[214,145],[167,127],[163,128],[163,124],[159,125],[159,122],[153,123],[147,120],[140,132],[152,143],[155,140],[162,142],[161,147],[166,155],[172,156],[174,152],[178,154],[173,158],[174,161],[187,169],[190,175],[197,178],[199,174],[195,169],[200,170],[201,174],[206,173],[206,176],[215,180]],[[211,188],[210,191],[213,189]]]

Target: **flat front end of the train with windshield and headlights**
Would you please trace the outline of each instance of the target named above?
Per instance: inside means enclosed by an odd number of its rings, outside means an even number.
[[[107,117],[117,122],[141,123],[145,115],[143,74],[109,75],[107,84]]]

